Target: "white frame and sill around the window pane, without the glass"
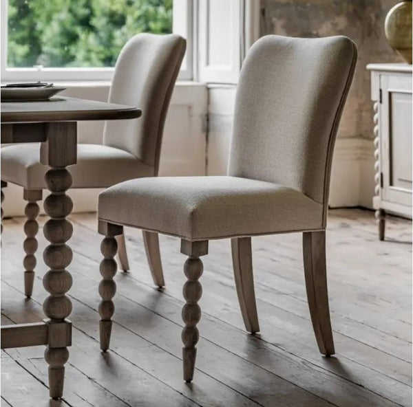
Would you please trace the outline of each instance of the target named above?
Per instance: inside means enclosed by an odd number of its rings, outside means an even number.
[[[184,36],[187,39],[187,52],[180,69],[178,79],[193,79],[193,32],[195,32],[194,14],[192,0],[174,0],[173,15],[184,15],[179,23],[173,23],[173,32]],[[21,80],[51,80],[51,81],[85,81],[85,80],[112,80],[114,67],[7,67],[8,54],[8,0],[1,0],[0,5],[0,74],[2,82]]]

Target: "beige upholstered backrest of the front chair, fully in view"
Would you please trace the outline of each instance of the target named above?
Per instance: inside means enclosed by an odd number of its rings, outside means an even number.
[[[345,36],[258,40],[240,74],[229,175],[283,184],[326,207],[356,61]]]

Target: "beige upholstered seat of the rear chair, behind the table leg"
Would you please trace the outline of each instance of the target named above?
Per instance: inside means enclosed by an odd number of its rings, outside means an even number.
[[[137,177],[153,176],[153,168],[119,148],[78,144],[77,164],[67,167],[72,188],[106,188]],[[1,148],[1,179],[26,189],[45,188],[47,167],[39,162],[40,143]]]

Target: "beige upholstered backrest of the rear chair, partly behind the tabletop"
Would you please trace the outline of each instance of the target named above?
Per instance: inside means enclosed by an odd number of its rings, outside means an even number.
[[[153,175],[158,175],[165,118],[186,47],[176,34],[136,34],[116,61],[109,102],[139,107],[142,116],[106,122],[103,144],[129,151],[153,166]]]

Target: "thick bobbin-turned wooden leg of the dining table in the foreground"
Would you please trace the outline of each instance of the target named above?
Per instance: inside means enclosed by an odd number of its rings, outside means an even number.
[[[72,303],[65,295],[72,287],[72,276],[66,268],[73,254],[66,243],[73,228],[66,217],[72,212],[73,203],[65,193],[72,185],[72,175],[65,167],[76,164],[76,122],[45,123],[44,131],[40,162],[51,168],[45,175],[50,195],[43,203],[50,218],[43,227],[43,234],[50,242],[43,252],[43,260],[50,267],[43,277],[43,286],[50,294],[43,303],[47,316],[45,360],[49,364],[50,397],[57,399],[63,396],[64,365],[69,357],[67,347],[72,344],[72,324],[66,319],[72,312]]]

